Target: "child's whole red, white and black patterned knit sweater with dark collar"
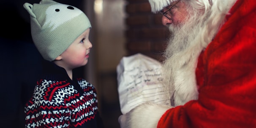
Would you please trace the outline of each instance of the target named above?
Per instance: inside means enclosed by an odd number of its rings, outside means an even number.
[[[43,75],[25,106],[26,128],[103,128],[97,93],[86,80],[44,61]]]

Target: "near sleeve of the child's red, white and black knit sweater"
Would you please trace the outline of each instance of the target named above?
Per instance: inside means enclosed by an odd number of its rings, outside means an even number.
[[[25,107],[25,128],[67,128],[70,110],[64,103],[63,92],[57,92],[54,84],[47,80],[38,81],[30,101]]]

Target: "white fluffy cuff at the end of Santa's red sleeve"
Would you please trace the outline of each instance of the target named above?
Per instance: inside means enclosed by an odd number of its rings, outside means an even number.
[[[156,128],[162,115],[170,108],[169,105],[143,103],[120,116],[119,123],[121,128]]]

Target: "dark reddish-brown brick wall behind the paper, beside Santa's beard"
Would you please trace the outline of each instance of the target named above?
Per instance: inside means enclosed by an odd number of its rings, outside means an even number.
[[[169,31],[161,23],[162,14],[151,12],[148,0],[126,0],[125,36],[129,55],[142,53],[161,61]]]

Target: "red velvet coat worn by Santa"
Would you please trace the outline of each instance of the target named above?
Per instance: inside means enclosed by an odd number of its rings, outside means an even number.
[[[158,128],[256,128],[256,1],[230,13],[199,56],[198,100],[167,110]]]

